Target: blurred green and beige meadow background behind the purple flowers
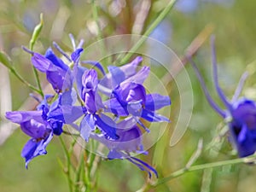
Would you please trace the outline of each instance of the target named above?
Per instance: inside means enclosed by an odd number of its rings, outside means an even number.
[[[97,23],[102,38],[117,34],[143,34],[160,12],[167,0],[115,0],[96,1]],[[250,76],[242,91],[243,96],[256,99],[256,3],[253,0],[179,0],[150,37],[166,44],[182,59],[189,45],[202,32],[202,44],[194,49],[195,61],[207,82],[212,97],[218,101],[213,84],[209,35],[216,36],[218,72],[221,86],[227,96],[232,96],[244,71]],[[96,20],[90,1],[85,0],[3,0],[0,2],[0,49],[13,59],[17,71],[31,84],[30,55],[20,49],[28,47],[32,30],[44,14],[44,28],[34,50],[44,54],[52,42],[64,50],[72,47],[68,38],[73,33],[76,39],[84,38],[89,45],[99,38]],[[205,31],[204,31],[205,30]],[[154,51],[154,48],[152,48]],[[84,58],[86,59],[86,58]],[[155,67],[157,69],[157,67]],[[160,69],[161,70],[161,69]],[[222,119],[209,107],[192,68],[186,65],[193,86],[194,108],[189,129],[175,146],[170,147],[173,125],[170,124],[160,141],[149,149],[148,155],[140,156],[156,167],[160,177],[165,177],[186,165],[195,152],[200,138],[204,146],[216,137],[216,129]],[[165,72],[163,72],[165,73]],[[44,79],[44,75],[42,75]],[[45,84],[43,80],[43,84]],[[0,65],[0,191],[68,191],[67,180],[59,161],[64,160],[61,143],[54,139],[49,144],[48,154],[32,160],[26,170],[20,157],[28,137],[15,125],[4,119],[10,110],[28,110],[35,107],[31,92],[12,73]],[[179,108],[179,92],[172,79],[167,79],[166,89],[172,99],[174,119]],[[182,114],[180,114],[182,115]],[[213,148],[214,149],[214,148]],[[214,158],[203,151],[196,164],[236,158],[228,138],[225,138],[220,153]],[[147,174],[126,160],[102,160],[99,171],[98,191],[136,191],[147,180]],[[224,166],[214,169],[211,184],[202,189],[205,180],[202,171],[189,172],[172,179],[150,191],[246,191],[255,192],[256,167],[248,165]]]

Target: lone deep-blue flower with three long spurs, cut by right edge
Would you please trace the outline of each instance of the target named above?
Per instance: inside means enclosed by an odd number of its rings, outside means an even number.
[[[214,47],[214,38],[212,38],[212,67],[213,80],[220,100],[224,103],[226,109],[219,108],[216,102],[209,95],[206,84],[201,77],[201,73],[195,66],[194,61],[190,60],[195,69],[195,73],[201,82],[201,87],[207,96],[207,101],[217,113],[227,119],[230,131],[230,140],[236,147],[240,157],[246,157],[254,154],[256,150],[256,102],[247,98],[239,98],[242,86],[247,78],[247,73],[244,73],[236,88],[235,95],[231,100],[224,95],[218,84],[217,61]]]

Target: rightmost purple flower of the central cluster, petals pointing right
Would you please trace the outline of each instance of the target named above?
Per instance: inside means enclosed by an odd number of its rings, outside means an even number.
[[[142,61],[142,58],[137,57],[136,60]],[[107,106],[105,110],[117,116],[131,114],[135,117],[147,119],[150,122],[168,122],[169,119],[155,113],[155,111],[171,104],[169,96],[146,94],[143,82],[147,79],[150,69],[149,67],[142,67],[141,70],[135,73],[136,67],[137,61],[134,61],[123,66],[122,69],[121,67],[114,67],[110,70],[111,77],[118,76],[118,80],[113,79],[114,87],[111,92],[111,98],[104,102],[104,105]],[[129,73],[129,76],[126,77],[128,73],[126,70],[131,68],[134,70],[134,73]]]

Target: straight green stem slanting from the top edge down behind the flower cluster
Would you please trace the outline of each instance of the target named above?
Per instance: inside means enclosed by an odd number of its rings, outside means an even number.
[[[129,52],[123,57],[121,60],[121,64],[125,64],[129,59],[131,58],[131,55],[133,55],[137,49],[140,48],[140,46],[144,43],[144,41],[148,38],[151,32],[155,29],[156,26],[160,24],[162,20],[165,19],[166,15],[170,12],[170,10],[173,8],[174,4],[177,2],[177,0],[171,0],[167,5],[166,8],[163,9],[160,13],[160,15],[154,20],[154,22],[148,27],[146,32],[144,32],[143,37],[141,37],[138,41],[137,44],[135,44]],[[119,58],[117,59],[119,61]]]

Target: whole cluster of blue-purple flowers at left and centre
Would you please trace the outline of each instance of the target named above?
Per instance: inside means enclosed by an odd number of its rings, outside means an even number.
[[[143,132],[149,132],[142,119],[149,122],[167,121],[156,113],[171,104],[169,96],[147,94],[143,82],[149,67],[138,65],[143,58],[137,56],[122,67],[102,65],[93,61],[80,61],[81,45],[69,56],[55,47],[69,62],[67,65],[47,49],[45,55],[27,50],[32,54],[32,65],[45,73],[55,95],[44,96],[35,111],[14,111],[6,118],[20,124],[21,130],[31,139],[22,150],[28,163],[36,156],[46,154],[46,146],[54,136],[60,136],[63,125],[72,125],[86,141],[95,139],[108,149],[108,159],[127,159],[143,171],[157,175],[152,166],[133,157],[131,153],[145,154]],[[92,64],[86,68],[81,63]],[[100,78],[101,77],[101,78]]]

